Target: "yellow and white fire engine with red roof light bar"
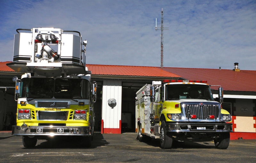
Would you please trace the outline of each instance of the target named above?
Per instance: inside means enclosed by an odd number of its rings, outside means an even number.
[[[161,148],[174,141],[214,141],[226,149],[232,132],[231,116],[214,101],[207,81],[164,80],[144,85],[136,93],[136,132],[139,141],[159,138]]]

